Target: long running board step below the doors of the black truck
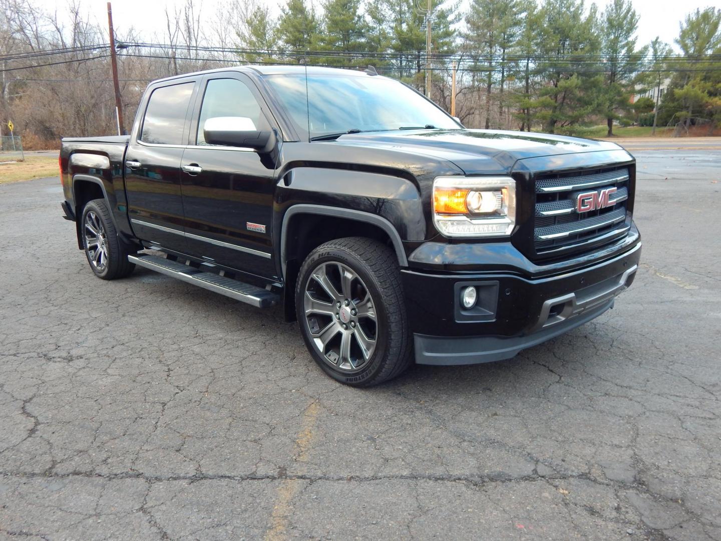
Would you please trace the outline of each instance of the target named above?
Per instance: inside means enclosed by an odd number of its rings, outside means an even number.
[[[177,263],[177,261],[161,258],[158,255],[128,255],[128,261],[149,268],[167,276],[172,276],[195,286],[229,296],[236,301],[247,302],[258,308],[268,308],[278,304],[279,296],[267,289],[252,286],[249,283],[231,280],[215,273],[205,273],[195,267]]]

